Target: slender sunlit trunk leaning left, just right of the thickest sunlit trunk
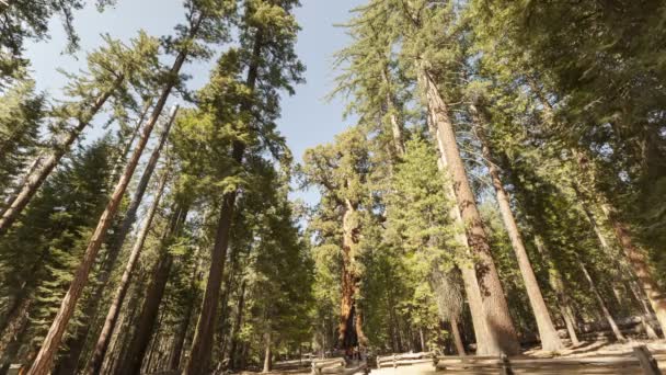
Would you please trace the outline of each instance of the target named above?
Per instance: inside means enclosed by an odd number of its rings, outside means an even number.
[[[560,341],[558,331],[555,330],[553,321],[550,317],[550,312],[548,311],[548,307],[546,306],[546,300],[543,300],[541,287],[537,282],[537,276],[535,275],[529,255],[525,249],[523,236],[520,236],[520,229],[518,228],[518,224],[516,223],[516,218],[512,212],[508,194],[504,190],[504,184],[500,178],[500,170],[497,169],[497,166],[492,162],[492,151],[483,133],[485,121],[482,118],[482,114],[479,113],[479,110],[474,104],[470,105],[470,110],[475,123],[474,130],[478,138],[481,140],[482,154],[486,160],[489,174],[491,175],[491,181],[493,188],[495,189],[497,203],[500,204],[500,213],[502,214],[502,220],[504,221],[504,227],[506,228],[508,237],[512,241],[512,247],[516,253],[518,268],[520,269],[527,296],[537,321],[537,328],[541,339],[541,346],[547,351],[562,350],[564,345],[562,344],[562,341]]]

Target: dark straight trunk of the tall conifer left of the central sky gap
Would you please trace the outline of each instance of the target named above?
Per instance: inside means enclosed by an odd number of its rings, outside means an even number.
[[[257,31],[254,37],[254,46],[252,50],[252,61],[248,68],[248,77],[245,86],[250,92],[254,91],[259,75],[259,64],[263,49],[262,31]],[[241,105],[241,112],[250,112],[252,102],[246,101]],[[231,150],[231,158],[241,164],[245,145],[241,141],[234,141]],[[225,261],[227,258],[227,249],[229,247],[229,229],[233,218],[233,208],[236,205],[237,191],[228,192],[222,196],[222,207],[220,218],[217,225],[215,235],[215,245],[210,255],[210,269],[208,271],[208,283],[204,293],[204,300],[197,320],[192,349],[190,351],[190,360],[185,366],[184,375],[203,375],[207,372],[210,365],[210,355],[213,351],[213,340],[216,325],[216,310],[219,303],[220,286],[222,284],[222,275],[225,272]]]

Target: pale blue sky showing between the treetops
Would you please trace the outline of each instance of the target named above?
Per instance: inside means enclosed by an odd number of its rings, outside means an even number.
[[[93,2],[93,1],[89,1]],[[305,84],[297,87],[296,95],[285,98],[283,118],[278,122],[280,132],[296,158],[300,160],[308,147],[333,139],[345,126],[342,120],[344,104],[340,100],[326,102],[324,96],[333,88],[335,72],[332,71],[332,55],[346,43],[348,37],[341,27],[349,18],[349,10],[365,0],[302,0],[296,11],[302,27],[298,38],[297,52],[306,64]],[[57,72],[58,68],[77,71],[84,66],[85,53],[102,42],[101,34],[127,41],[143,29],[150,35],[168,35],[173,26],[183,20],[181,0],[117,0],[117,5],[99,13],[94,7],[74,14],[74,27],[81,37],[81,50],[76,56],[62,54],[66,47],[65,33],[60,20],[50,25],[50,39],[31,43],[26,55],[32,60],[32,69],[39,90],[58,98],[66,80]],[[188,87],[196,89],[208,79],[211,61],[187,66],[184,70],[193,76]],[[100,134],[93,129],[88,138]]]

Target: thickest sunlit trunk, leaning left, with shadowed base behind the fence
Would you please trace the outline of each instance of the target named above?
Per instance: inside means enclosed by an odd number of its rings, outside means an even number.
[[[447,106],[437,90],[435,81],[424,67],[421,67],[420,70],[420,84],[422,84],[422,89],[426,94],[436,127],[434,136],[438,140],[441,154],[446,157],[446,162],[453,180],[457,203],[460,207],[462,219],[467,224],[469,247],[479,259],[475,268],[479,286],[482,291],[484,309],[481,314],[484,314],[485,317],[486,334],[479,337],[479,332],[476,332],[478,342],[484,343],[483,354],[517,354],[520,351],[518,337],[508,311],[500,275],[491,255],[489,239],[483,228],[481,215],[476,208],[474,194],[467,178],[464,163],[460,157]],[[464,273],[463,271],[463,280]],[[479,312],[473,311],[472,315],[474,314]]]

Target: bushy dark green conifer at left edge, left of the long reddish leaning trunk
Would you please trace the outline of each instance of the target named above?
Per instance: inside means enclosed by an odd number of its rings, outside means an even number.
[[[0,340],[3,363],[11,363],[22,346],[44,337],[45,321],[55,312],[54,300],[69,282],[78,249],[94,225],[92,217],[103,209],[111,149],[105,138],[77,151],[45,184],[21,226],[2,239],[3,285],[14,306]]]

